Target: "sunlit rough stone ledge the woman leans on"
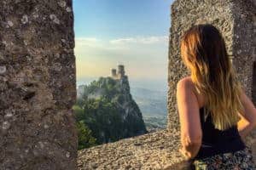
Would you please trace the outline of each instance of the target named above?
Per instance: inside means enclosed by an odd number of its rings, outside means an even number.
[[[160,130],[79,151],[79,169],[186,169],[179,132]]]

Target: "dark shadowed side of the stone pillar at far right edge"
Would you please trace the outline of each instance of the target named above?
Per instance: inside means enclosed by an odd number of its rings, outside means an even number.
[[[236,1],[232,3],[232,14],[234,17],[234,32],[232,51],[234,55],[233,64],[238,76],[246,89],[247,95],[253,99],[256,105],[256,87],[253,77],[256,60],[256,1]],[[247,144],[252,144],[254,161],[256,162],[256,129],[247,137]]]

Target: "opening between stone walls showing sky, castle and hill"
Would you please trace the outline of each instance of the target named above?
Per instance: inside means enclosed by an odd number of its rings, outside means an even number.
[[[166,128],[171,3],[73,1],[79,150]]]

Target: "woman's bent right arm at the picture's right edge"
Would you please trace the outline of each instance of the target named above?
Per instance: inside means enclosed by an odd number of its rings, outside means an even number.
[[[237,128],[241,138],[245,138],[256,127],[256,109],[244,90],[241,93],[241,104],[244,107],[244,116],[240,114],[241,120],[237,123]]]

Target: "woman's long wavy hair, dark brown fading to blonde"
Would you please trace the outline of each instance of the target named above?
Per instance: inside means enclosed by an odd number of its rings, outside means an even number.
[[[206,97],[205,114],[211,114],[214,127],[224,130],[236,125],[244,115],[241,82],[218,29],[210,24],[190,27],[181,38],[181,56],[196,90]]]

